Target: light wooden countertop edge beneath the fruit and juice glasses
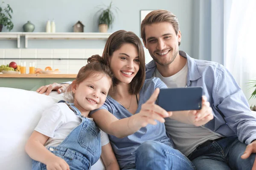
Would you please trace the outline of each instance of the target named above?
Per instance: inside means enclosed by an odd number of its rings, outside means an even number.
[[[0,74],[0,78],[76,78],[76,74]]]

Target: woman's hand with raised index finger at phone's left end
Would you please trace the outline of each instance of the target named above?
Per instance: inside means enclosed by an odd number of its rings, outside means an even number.
[[[140,112],[130,117],[128,127],[140,128],[148,124],[156,125],[155,120],[163,123],[165,122],[164,118],[172,115],[172,112],[166,112],[165,109],[155,104],[159,91],[159,88],[155,89],[148,101],[141,106]]]

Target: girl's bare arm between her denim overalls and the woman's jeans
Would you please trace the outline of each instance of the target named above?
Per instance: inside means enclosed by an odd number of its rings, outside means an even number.
[[[119,164],[110,143],[102,146],[101,158],[106,170],[119,170]]]

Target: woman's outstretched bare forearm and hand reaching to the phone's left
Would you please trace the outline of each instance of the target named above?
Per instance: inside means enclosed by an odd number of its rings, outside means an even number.
[[[137,132],[141,127],[145,127],[148,124],[157,124],[156,120],[163,123],[165,121],[164,118],[172,114],[168,114],[166,110],[155,104],[158,94],[159,89],[157,88],[148,101],[141,106],[140,112],[129,118],[119,120],[105,109],[100,109],[90,116],[105,133],[114,135],[117,138],[123,138]]]

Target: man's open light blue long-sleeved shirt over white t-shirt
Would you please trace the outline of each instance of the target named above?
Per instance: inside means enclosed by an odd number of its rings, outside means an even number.
[[[256,139],[256,115],[244,93],[231,73],[221,64],[212,61],[196,60],[186,52],[179,54],[187,58],[187,86],[202,86],[212,107],[214,119],[205,124],[213,133],[221,136],[237,135],[239,141],[250,144]],[[146,65],[146,79],[153,77],[156,63]]]

